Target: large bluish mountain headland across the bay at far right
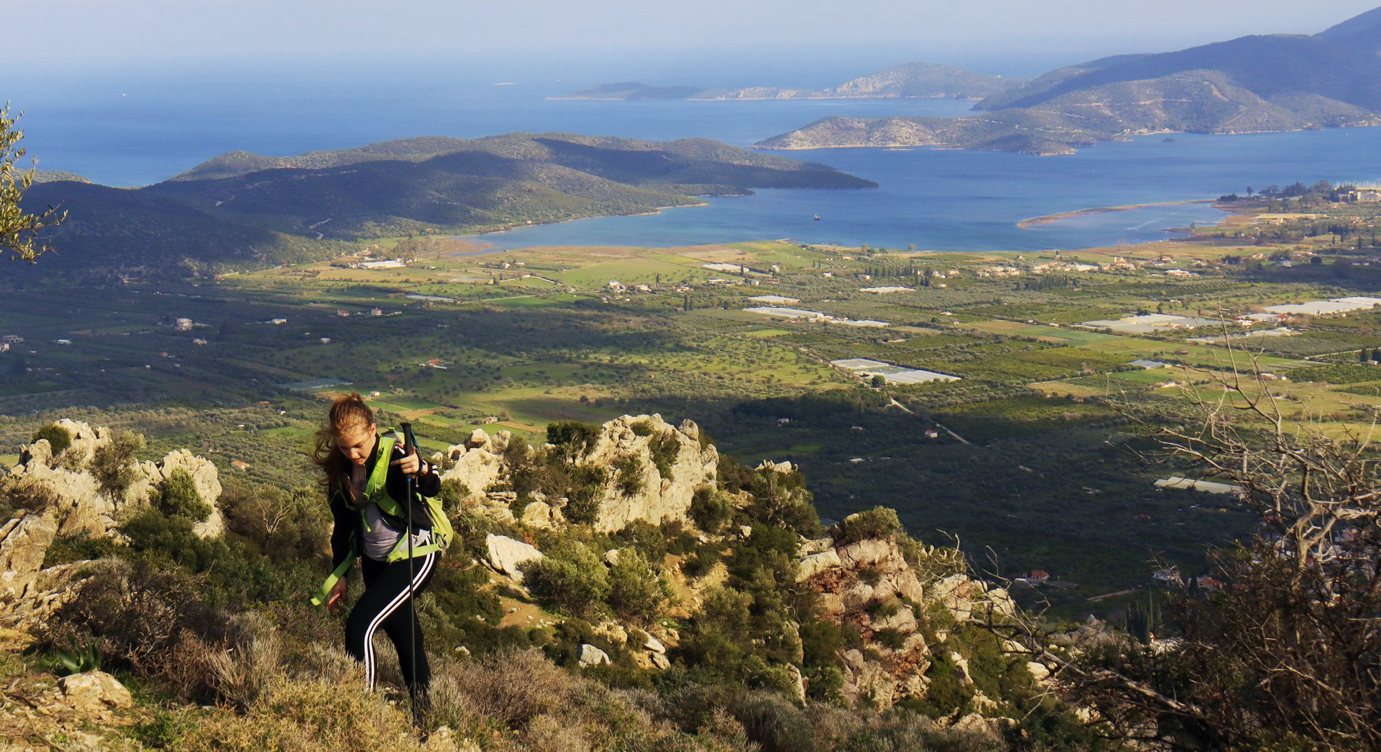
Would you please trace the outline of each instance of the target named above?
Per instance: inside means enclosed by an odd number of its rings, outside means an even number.
[[[960,119],[827,118],[757,147],[943,145],[1030,153],[1143,133],[1381,124],[1381,8],[1319,35],[1244,36],[1051,70]]]

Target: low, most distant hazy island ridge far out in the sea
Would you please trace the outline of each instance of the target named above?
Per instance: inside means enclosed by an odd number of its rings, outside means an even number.
[[[695,86],[648,86],[621,82],[576,91],[574,100],[881,100],[943,98],[982,100],[1023,83],[990,73],[965,70],[935,62],[895,65],[823,90],[751,86],[744,88],[702,88]]]

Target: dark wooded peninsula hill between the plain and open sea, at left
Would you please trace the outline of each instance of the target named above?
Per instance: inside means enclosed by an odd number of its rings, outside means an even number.
[[[638,214],[753,188],[873,187],[717,141],[508,134],[290,158],[231,152],[139,189],[36,184],[25,205],[69,214],[46,274],[124,278],[327,257],[359,238]]]

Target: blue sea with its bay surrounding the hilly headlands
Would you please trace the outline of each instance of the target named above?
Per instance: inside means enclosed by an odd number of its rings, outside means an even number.
[[[228,151],[286,156],[416,135],[510,131],[644,140],[703,137],[737,147],[820,118],[967,115],[956,100],[588,101],[559,98],[597,82],[548,76],[228,75],[160,70],[68,75],[8,93],[25,111],[29,156],[43,170],[137,187]],[[1091,213],[1021,228],[1022,220],[1128,205],[1203,202],[1294,181],[1377,182],[1381,129],[1137,137],[1068,156],[960,149],[768,152],[869,178],[876,189],[760,189],[653,216],[533,225],[481,239],[503,249],[550,245],[666,247],[790,238],[924,250],[1119,246],[1215,223],[1208,203]],[[815,217],[819,217],[818,220]]]

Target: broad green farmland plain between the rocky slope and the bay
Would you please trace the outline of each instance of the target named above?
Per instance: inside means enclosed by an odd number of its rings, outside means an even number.
[[[1206,543],[1250,529],[1240,510],[1211,523],[1186,516],[1199,499],[1156,491],[1150,481],[1161,470],[1110,437],[1130,430],[1126,411],[1172,419],[1190,395],[1213,397],[1214,373],[1232,362],[1250,370],[1251,358],[1189,344],[1190,332],[1119,336],[1068,323],[1157,307],[1195,315],[1207,300],[1232,312],[1367,292],[1324,283],[1302,265],[1214,267],[1251,249],[1193,243],[1123,249],[1120,256],[1143,265],[1040,289],[1027,278],[979,271],[994,263],[1050,263],[1048,253],[1019,261],[1000,253],[750,242],[461,257],[438,247],[405,270],[320,263],[156,290],[11,290],[10,310],[18,312],[7,314],[6,329],[25,336],[33,352],[0,354],[6,373],[17,373],[21,358],[25,369],[0,382],[0,451],[12,456],[43,420],[73,416],[148,434],[149,456],[188,446],[222,469],[232,459],[250,462],[243,476],[250,482],[293,485],[309,473],[305,453],[325,398],[341,391],[380,393],[371,402],[383,419],[412,420],[429,449],[457,444],[475,427],[541,441],[552,420],[660,412],[696,420],[743,462],[801,463],[826,517],[892,506],[929,542],[957,535],[975,556],[992,550],[1007,571],[1044,568],[1080,582],[1063,604],[1077,610],[1083,597],[1143,583],[1145,552],[1193,570]],[[1160,253],[1201,258],[1217,276],[1168,279],[1152,261]],[[1108,261],[1112,254],[1079,257]],[[708,263],[780,271],[751,285],[704,270]],[[939,288],[925,270],[960,274]],[[704,283],[711,276],[731,283]],[[612,293],[612,279],[649,290]],[[876,285],[916,292],[859,292]],[[744,312],[755,306],[747,299],[761,294],[891,326]],[[178,332],[171,322],[180,317],[204,326]],[[265,323],[275,318],[287,323]],[[55,339],[73,344],[54,346]],[[1259,348],[1257,368],[1288,379],[1268,388],[1291,417],[1322,419],[1330,433],[1364,431],[1367,411],[1381,409],[1371,388],[1381,377],[1356,365],[1358,350],[1381,347],[1381,312],[1316,317],[1297,336],[1251,344]],[[1335,365],[1304,359],[1335,352]],[[878,390],[829,365],[842,358],[961,380]],[[1130,365],[1139,358],[1175,368]],[[275,386],[316,379],[349,384],[316,395]],[[1164,382],[1190,391],[1156,387]],[[925,429],[936,423],[968,444],[946,431],[928,438]]]

